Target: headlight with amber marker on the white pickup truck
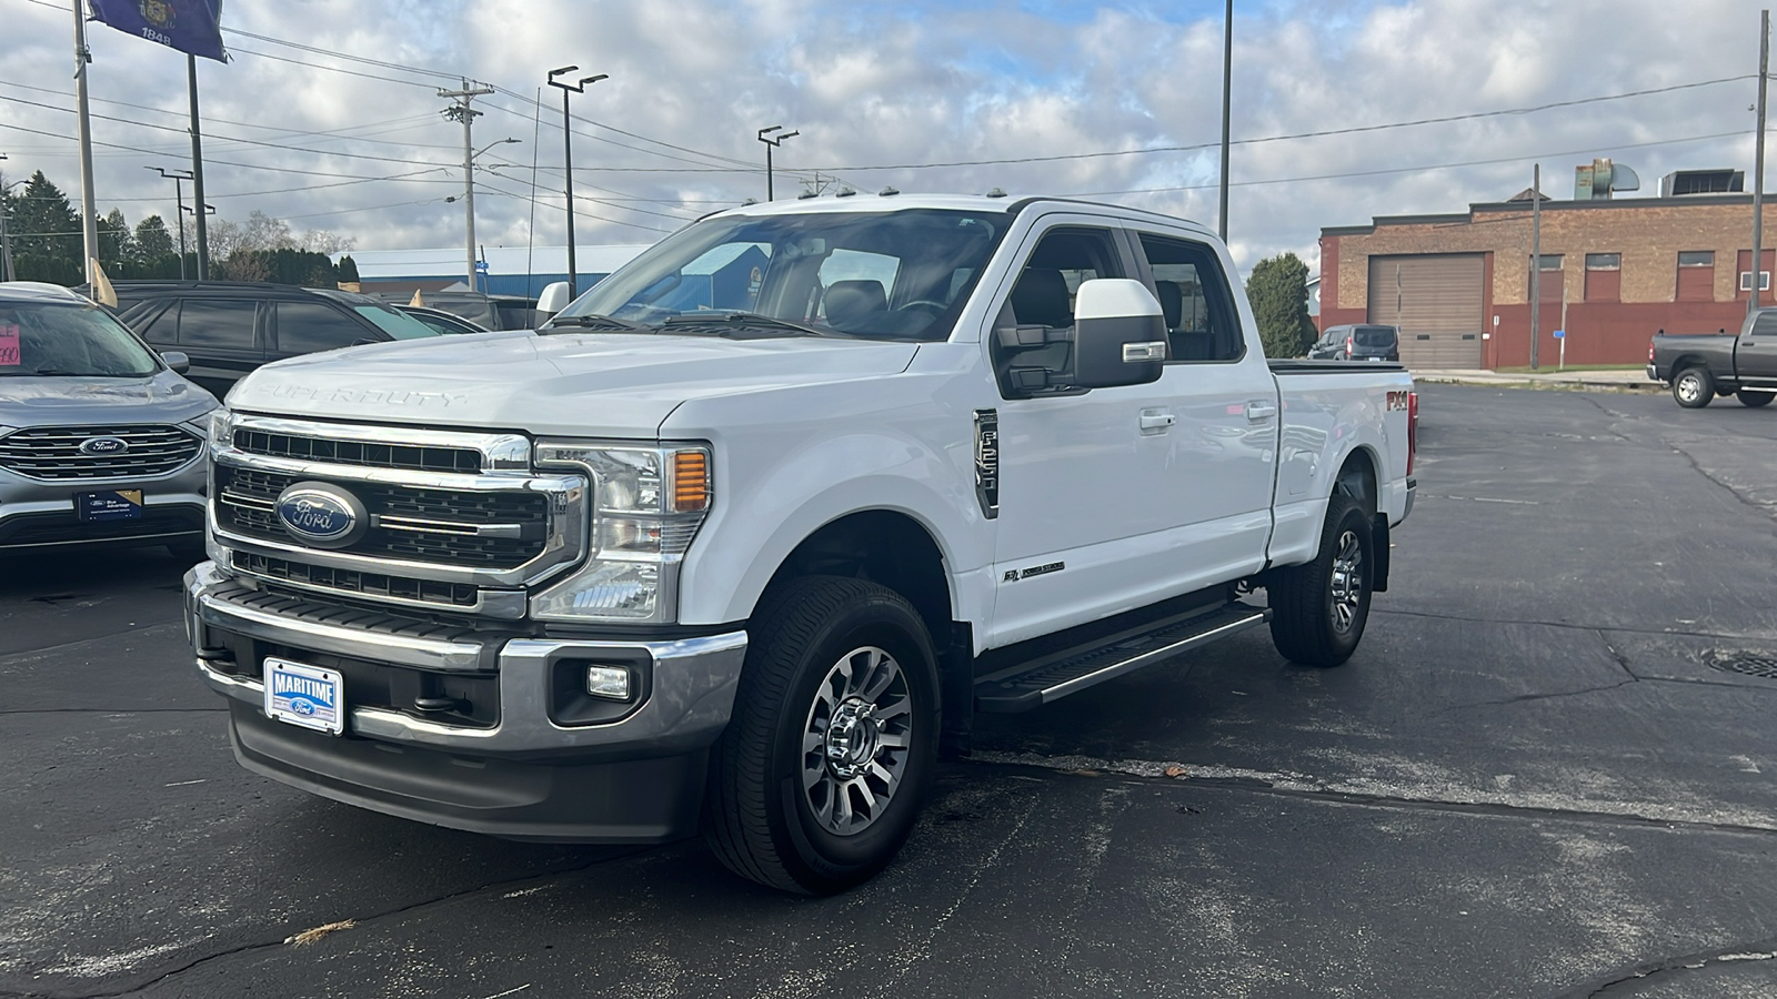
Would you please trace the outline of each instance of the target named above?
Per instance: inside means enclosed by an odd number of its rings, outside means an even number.
[[[540,468],[574,468],[592,480],[592,556],[531,597],[540,620],[672,622],[679,563],[713,498],[709,448],[599,446],[540,441]]]

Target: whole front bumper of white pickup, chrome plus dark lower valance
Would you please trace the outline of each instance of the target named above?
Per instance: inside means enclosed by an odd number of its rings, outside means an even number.
[[[416,624],[256,590],[211,562],[185,576],[185,603],[199,677],[229,699],[245,768],[371,811],[508,839],[693,834],[707,748],[729,722],[746,654],[745,631],[634,642]],[[267,654],[341,670],[343,736],[265,715]],[[629,663],[638,704],[608,722],[558,720],[558,674],[583,661]],[[483,691],[476,697],[492,700],[492,713],[428,718],[410,697],[428,690]]]

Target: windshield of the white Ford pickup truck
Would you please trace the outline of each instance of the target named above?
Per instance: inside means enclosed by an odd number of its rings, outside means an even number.
[[[613,332],[709,332],[679,316],[736,315],[720,327],[755,316],[773,336],[945,340],[1009,222],[929,208],[716,217],[638,256],[551,325],[611,316],[636,327]]]

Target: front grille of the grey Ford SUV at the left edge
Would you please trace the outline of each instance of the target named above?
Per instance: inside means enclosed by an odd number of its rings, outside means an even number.
[[[117,437],[124,448],[84,453],[92,437]],[[0,468],[50,482],[140,478],[176,471],[201,450],[203,439],[179,427],[30,427],[0,437]]]

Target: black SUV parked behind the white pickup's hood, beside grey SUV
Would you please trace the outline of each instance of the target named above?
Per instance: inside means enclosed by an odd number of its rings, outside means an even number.
[[[437,331],[370,295],[251,281],[119,281],[117,316],[217,398],[247,372],[299,354],[416,340]]]

